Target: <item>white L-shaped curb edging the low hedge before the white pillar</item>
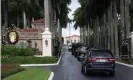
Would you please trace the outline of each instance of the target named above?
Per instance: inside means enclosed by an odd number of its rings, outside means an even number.
[[[57,66],[60,63],[61,58],[62,58],[62,54],[61,54],[59,60],[57,61],[57,63],[54,63],[54,64],[21,64],[20,66],[21,67],[30,67],[30,66],[34,66],[34,67],[36,67],[36,66]]]

